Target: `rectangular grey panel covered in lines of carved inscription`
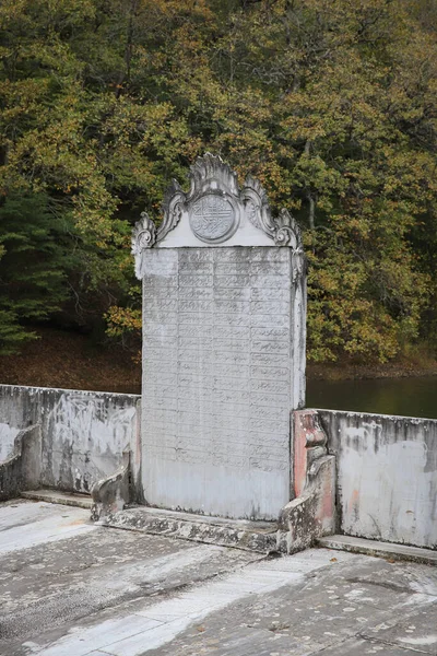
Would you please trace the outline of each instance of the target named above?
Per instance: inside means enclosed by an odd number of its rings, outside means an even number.
[[[290,500],[291,249],[146,256],[146,501],[275,519]]]

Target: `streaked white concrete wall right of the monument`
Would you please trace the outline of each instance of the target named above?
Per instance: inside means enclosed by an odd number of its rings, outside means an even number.
[[[318,410],[338,458],[340,529],[437,548],[437,420]]]

